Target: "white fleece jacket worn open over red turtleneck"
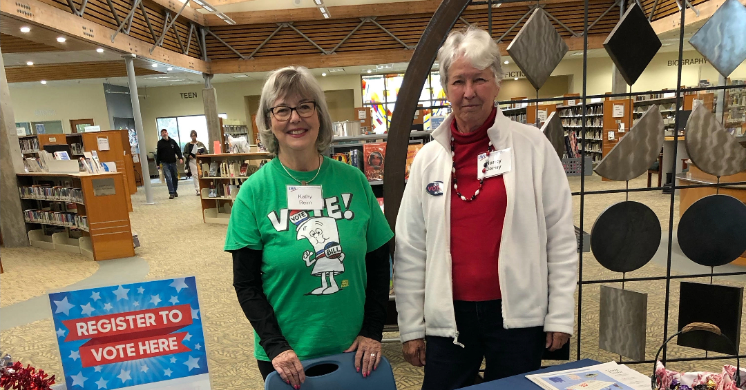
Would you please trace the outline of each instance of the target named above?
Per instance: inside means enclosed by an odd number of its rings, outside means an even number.
[[[458,344],[451,283],[453,120],[449,115],[417,153],[401,199],[394,256],[401,342],[427,334]],[[513,169],[504,177],[507,210],[498,255],[504,327],[572,334],[578,256],[562,162],[540,130],[510,121],[499,108],[487,135],[496,150],[513,152]],[[442,182],[442,195],[427,192],[434,182]]]

